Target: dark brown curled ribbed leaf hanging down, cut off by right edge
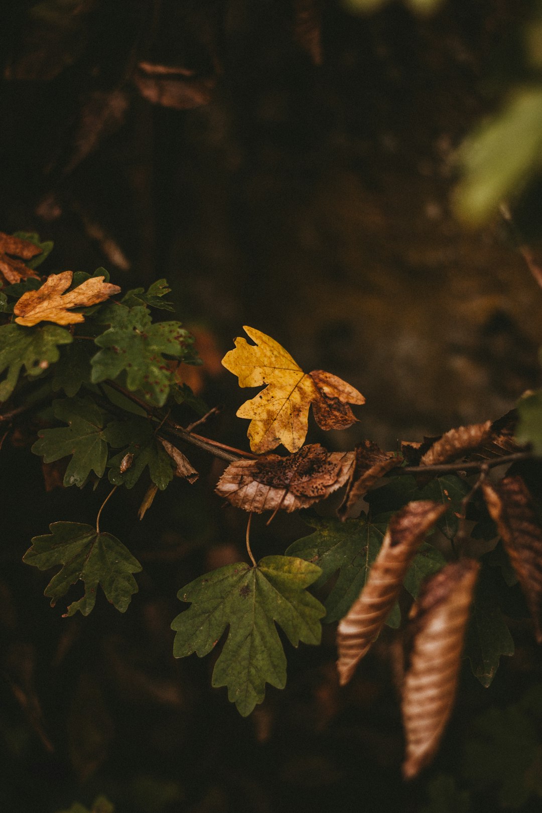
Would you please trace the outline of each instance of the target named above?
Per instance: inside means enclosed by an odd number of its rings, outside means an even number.
[[[482,488],[542,644],[542,527],[531,494],[519,475],[504,477],[497,485],[485,482]]]

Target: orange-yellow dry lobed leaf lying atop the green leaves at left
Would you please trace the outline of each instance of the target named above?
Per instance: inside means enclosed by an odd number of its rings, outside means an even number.
[[[51,274],[37,291],[24,293],[13,309],[17,317],[15,322],[24,324],[25,327],[31,327],[38,322],[55,324],[84,322],[85,316],[82,313],[73,313],[70,309],[97,305],[98,302],[103,302],[114,293],[120,292],[118,285],[104,282],[103,276],[91,276],[69,293],[63,293],[72,285],[72,278],[71,271]]]

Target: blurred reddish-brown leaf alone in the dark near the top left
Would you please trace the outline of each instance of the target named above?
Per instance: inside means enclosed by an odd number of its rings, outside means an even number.
[[[216,76],[195,76],[184,67],[139,63],[134,82],[141,96],[162,107],[189,110],[209,104]]]

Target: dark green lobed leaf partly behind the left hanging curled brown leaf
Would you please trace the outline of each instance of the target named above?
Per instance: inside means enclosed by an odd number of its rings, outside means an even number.
[[[388,527],[388,515],[376,517],[369,522],[365,515],[357,520],[307,520],[314,533],[309,537],[298,539],[286,553],[288,556],[299,556],[322,568],[322,575],[314,587],[324,585],[327,580],[339,571],[335,585],[327,596],[326,623],[338,621],[349,611],[358,598],[371,566],[375,561],[384,533]],[[397,628],[401,623],[399,605],[393,607],[386,624]]]

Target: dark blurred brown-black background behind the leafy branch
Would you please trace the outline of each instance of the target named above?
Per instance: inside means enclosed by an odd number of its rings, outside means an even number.
[[[393,449],[496,419],[540,385],[542,292],[522,238],[450,203],[458,146],[521,73],[532,4],[354,5],[0,7],[0,229],[53,240],[46,272],[103,265],[123,288],[167,277],[206,363],[189,383],[221,408],[206,431],[232,446],[248,448],[234,417],[245,393],[219,362],[243,324],[365,394],[348,433],[311,428],[330,448],[368,437]],[[535,175],[516,214],[536,246]],[[477,715],[502,715],[497,739],[510,719],[540,718],[524,695],[540,656],[521,623],[490,689],[466,670],[435,765],[403,785],[386,635],[346,690],[333,629],[318,649],[287,643],[287,688],[268,688],[246,720],[210,689],[212,659],[172,659],[176,591],[245,555],[245,517],[220,506],[221,467],[202,455],[198,483],[159,495],[141,523],[145,484],[107,515],[144,566],[127,614],[105,599],[87,619],[50,609],[21,556],[51,521],[92,522],[105,493],[44,485],[31,440],[3,448],[0,469],[4,809],[53,813],[106,793],[118,813],[540,810],[538,728],[516,726],[509,792],[468,769]],[[283,553],[308,533],[297,516],[259,521],[253,548]]]

